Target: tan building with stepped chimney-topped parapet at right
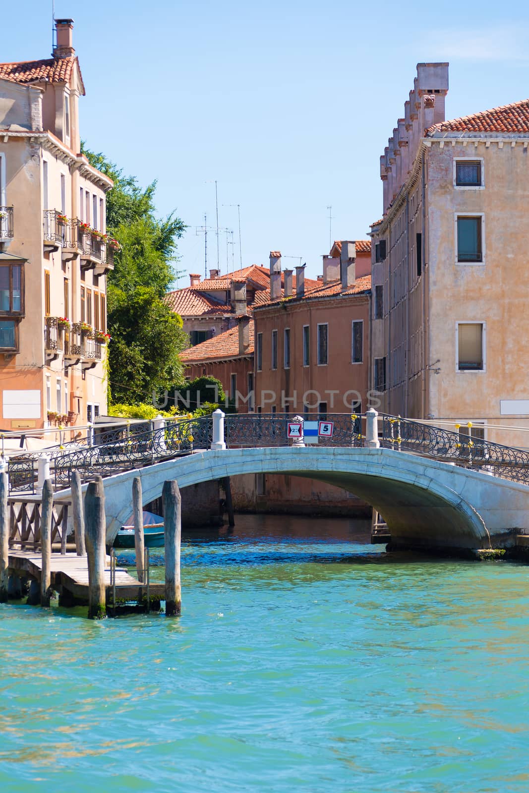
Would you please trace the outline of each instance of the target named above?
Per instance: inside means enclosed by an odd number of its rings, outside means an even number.
[[[447,91],[448,64],[419,63],[381,157],[372,385],[387,412],[529,446],[489,426],[529,427],[529,100],[445,121]]]

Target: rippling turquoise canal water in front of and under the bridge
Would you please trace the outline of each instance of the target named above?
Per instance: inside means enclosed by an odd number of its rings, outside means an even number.
[[[529,567],[255,516],[182,555],[181,619],[0,607],[2,793],[529,790]]]

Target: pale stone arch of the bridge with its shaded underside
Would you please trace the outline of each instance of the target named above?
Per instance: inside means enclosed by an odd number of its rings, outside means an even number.
[[[132,477],[140,475],[144,504],[159,497],[163,482],[184,488],[247,473],[282,473],[337,485],[371,504],[388,524],[396,546],[488,548],[489,531],[460,494],[464,469],[382,449],[267,448],[206,451],[128,471],[105,480],[107,541],[130,515]],[[486,485],[490,477],[483,477]]]

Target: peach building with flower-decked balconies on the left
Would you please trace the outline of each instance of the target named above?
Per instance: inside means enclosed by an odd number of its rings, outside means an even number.
[[[86,423],[106,410],[105,193],[79,154],[73,21],[51,59],[0,63],[0,426]]]

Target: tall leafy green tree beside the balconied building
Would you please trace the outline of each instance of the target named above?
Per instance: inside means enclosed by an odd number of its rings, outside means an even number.
[[[121,251],[107,284],[109,392],[114,402],[140,404],[182,381],[178,353],[189,339],[162,298],[174,280],[176,243],[186,226],[175,213],[155,216],[156,182],[143,190],[101,152],[84,144],[82,152],[114,182],[106,195],[106,226]]]

